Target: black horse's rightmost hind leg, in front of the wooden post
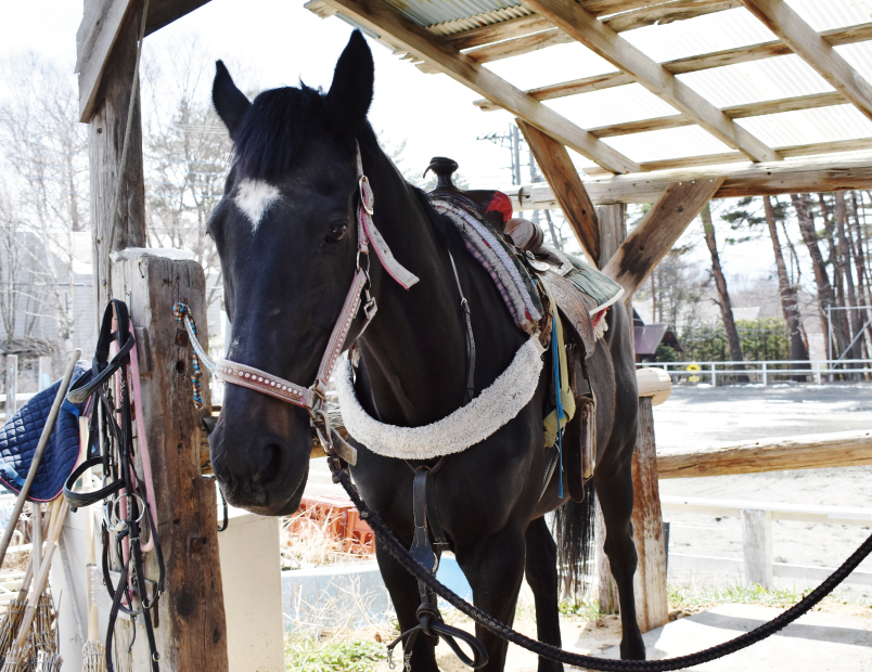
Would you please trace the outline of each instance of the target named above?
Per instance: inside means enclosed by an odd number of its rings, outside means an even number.
[[[627,462],[607,475],[595,471],[593,478],[605,522],[603,550],[608,556],[620,604],[620,624],[624,631],[620,639],[620,657],[627,660],[644,660],[645,644],[636,620],[636,597],[632,586],[638,557],[630,522],[633,504],[631,465]]]

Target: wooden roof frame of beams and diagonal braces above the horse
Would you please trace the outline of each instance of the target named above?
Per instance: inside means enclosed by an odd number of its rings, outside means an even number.
[[[592,205],[654,203],[655,207],[650,211],[654,214],[646,219],[645,231],[642,232],[654,237],[645,238],[645,244],[640,247],[645,248],[642,256],[646,259],[633,251],[631,236],[610,263],[603,263],[606,271],[621,282],[628,296],[708,197],[872,186],[872,155],[830,156],[839,152],[872,150],[872,138],[769,147],[734,124],[734,119],[847,104],[872,119],[872,86],[834,50],[838,44],[872,39],[872,23],[818,34],[784,0],[523,1],[522,8],[513,10],[525,15],[505,18],[499,14],[502,12],[499,10],[428,27],[414,23],[387,0],[310,0],[306,7],[321,16],[339,13],[422,70],[446,73],[471,89],[483,92],[484,100],[475,102],[482,109],[502,108],[515,115],[548,182],[504,191],[518,209],[562,207],[579,243],[592,259],[598,259],[597,251],[600,249],[597,215],[592,211]],[[741,7],[745,7],[779,39],[657,63],[619,35],[641,26],[683,21]],[[487,25],[471,28],[470,24],[476,21]],[[524,108],[521,112],[517,104],[505,104],[506,96],[502,90],[498,91],[498,95],[484,90],[480,81],[487,77],[484,74],[490,70],[482,68],[483,64],[570,42],[585,44],[612,63],[618,68],[617,72],[528,91],[520,91],[493,75],[499,79],[499,88],[511,91],[511,103],[523,100]],[[676,77],[682,73],[791,53],[805,60],[835,91],[719,109]],[[577,134],[584,133],[585,147],[564,142],[549,124],[542,122],[540,109],[531,103],[633,82],[670,104],[676,114],[593,129],[576,127]],[[707,131],[733,151],[647,164],[621,157],[634,166],[624,175],[614,169],[614,164],[606,166],[605,161],[586,151],[590,146],[601,150],[590,142],[591,138],[692,125]],[[572,167],[566,147],[592,158],[601,167],[601,172],[590,170],[588,179],[581,180]],[[815,158],[805,158],[811,156]],[[783,160],[785,158],[791,160]],[[746,163],[748,159],[751,163]],[[676,207],[676,203],[681,201],[688,207]],[[690,210],[692,212],[689,215]]]

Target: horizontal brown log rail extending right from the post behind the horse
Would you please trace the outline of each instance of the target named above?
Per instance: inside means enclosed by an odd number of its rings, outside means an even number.
[[[872,431],[759,439],[657,455],[661,478],[697,478],[872,464]]]

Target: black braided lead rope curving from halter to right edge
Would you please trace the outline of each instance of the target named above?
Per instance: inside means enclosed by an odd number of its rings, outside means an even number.
[[[549,644],[543,644],[536,639],[531,639],[520,632],[515,632],[508,625],[501,623],[497,619],[488,616],[477,607],[471,605],[465,599],[454,594],[451,590],[443,585],[436,580],[420,563],[411,556],[409,551],[394,537],[382,519],[374,511],[367,506],[366,502],[360,497],[357,488],[351,483],[351,477],[348,471],[339,467],[338,460],[329,460],[331,470],[333,471],[333,480],[342,483],[348,496],[357,506],[360,512],[360,517],[369,522],[373,532],[379,537],[385,548],[393,555],[397,561],[402,565],[415,579],[424,583],[434,593],[439,595],[450,605],[469,616],[476,623],[487,628],[496,635],[503,639],[516,644],[534,654],[543,658],[549,658],[557,662],[588,668],[590,670],[600,670],[603,672],[667,672],[669,670],[681,670],[683,668],[691,668],[706,662],[710,662],[717,658],[722,658],[729,654],[734,654],[743,648],[747,648],[752,644],[756,644],[770,635],[773,635],[779,630],[790,625],[804,613],[807,613],[815,605],[820,603],[826,595],[829,595],[839,583],[842,583],[847,576],[857,569],[857,566],[872,553],[872,534],[867,539],[860,547],[855,551],[851,556],[845,560],[842,566],[830,574],[823,583],[817,589],[811,591],[800,602],[793,607],[772,619],[768,623],[764,623],[759,628],[746,632],[734,639],[718,644],[710,648],[690,654],[688,656],[679,656],[677,658],[667,658],[663,660],[612,660],[607,658],[594,658],[592,656],[582,656],[580,654],[572,654],[563,649],[556,648]]]

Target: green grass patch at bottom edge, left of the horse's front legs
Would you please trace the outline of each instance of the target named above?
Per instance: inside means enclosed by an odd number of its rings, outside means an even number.
[[[371,672],[387,657],[385,645],[373,639],[312,636],[285,638],[287,672]]]

